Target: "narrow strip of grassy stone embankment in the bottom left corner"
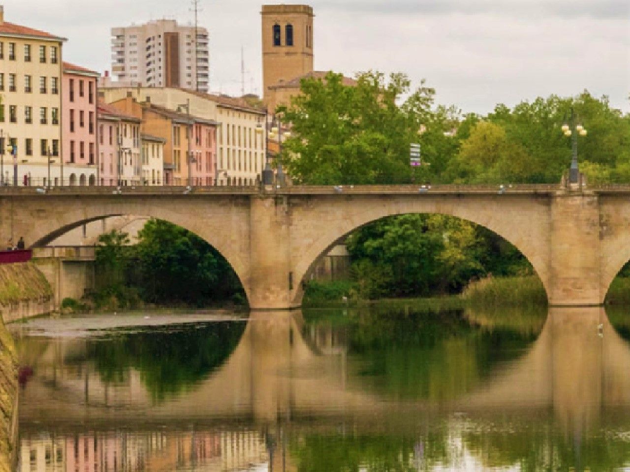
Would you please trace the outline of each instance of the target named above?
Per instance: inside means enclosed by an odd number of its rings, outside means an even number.
[[[13,472],[17,458],[17,374],[13,339],[0,320],[0,472]]]

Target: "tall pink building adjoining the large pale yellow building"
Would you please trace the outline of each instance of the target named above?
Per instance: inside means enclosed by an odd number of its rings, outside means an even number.
[[[61,108],[65,184],[98,183],[98,77],[98,72],[64,62]]]

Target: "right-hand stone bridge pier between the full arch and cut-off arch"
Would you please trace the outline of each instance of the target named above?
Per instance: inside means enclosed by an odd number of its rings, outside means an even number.
[[[558,193],[551,201],[549,305],[597,306],[601,286],[597,195]]]

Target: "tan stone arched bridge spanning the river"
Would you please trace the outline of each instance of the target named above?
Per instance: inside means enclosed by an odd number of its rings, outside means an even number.
[[[212,244],[253,309],[301,305],[316,261],[384,216],[441,213],[486,227],[532,263],[556,306],[601,305],[630,259],[630,186],[0,189],[0,242],[30,247],[108,216],[161,218]]]

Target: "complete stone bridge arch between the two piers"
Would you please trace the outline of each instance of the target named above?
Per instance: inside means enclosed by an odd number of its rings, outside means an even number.
[[[319,258],[332,249],[338,241],[348,234],[368,223],[381,220],[387,216],[399,216],[409,213],[440,214],[455,216],[476,225],[487,228],[503,239],[514,245],[534,267],[549,297],[549,249],[543,244],[548,239],[549,216],[548,212],[541,211],[541,205],[547,205],[544,201],[536,199],[520,199],[515,205],[500,205],[503,197],[463,199],[441,196],[440,198],[424,198],[418,196],[401,196],[398,201],[392,202],[383,199],[381,202],[374,198],[348,197],[343,202],[339,200],[319,199],[303,205],[296,213],[310,211],[317,215],[317,225],[302,228],[296,238],[308,241],[302,243],[300,251],[299,243],[295,244],[294,278],[300,283],[294,289],[293,303],[299,306],[304,296],[304,288],[301,282],[310,276]],[[351,205],[345,205],[352,201]],[[326,210],[328,209],[328,211]],[[542,215],[542,217],[541,217]],[[312,220],[311,216],[311,220]]]

